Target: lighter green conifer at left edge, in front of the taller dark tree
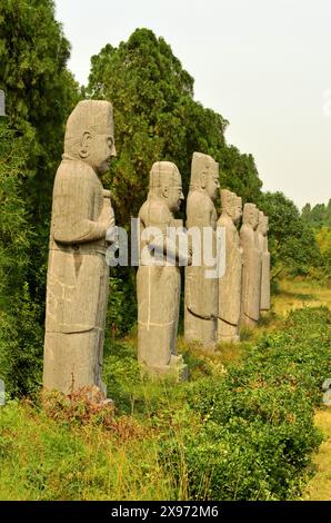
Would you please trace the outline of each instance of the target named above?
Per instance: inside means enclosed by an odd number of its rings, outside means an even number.
[[[12,394],[36,388],[42,355],[42,307],[31,300],[27,282],[33,230],[22,196],[20,144],[0,121],[0,378]]]

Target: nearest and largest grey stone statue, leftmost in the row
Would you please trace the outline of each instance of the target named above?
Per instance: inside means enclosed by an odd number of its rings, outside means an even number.
[[[53,187],[43,385],[64,394],[101,379],[109,268],[110,193],[99,179],[116,156],[111,103],[80,101],[66,128]]]

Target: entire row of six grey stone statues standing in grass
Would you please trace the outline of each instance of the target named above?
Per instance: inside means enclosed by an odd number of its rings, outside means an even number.
[[[70,115],[64,154],[54,179],[47,279],[43,385],[64,394],[97,387],[107,397],[102,357],[109,267],[106,253],[114,241],[110,193],[100,176],[116,156],[113,110],[110,102],[84,100]],[[184,336],[213,349],[217,342],[239,341],[241,324],[253,326],[260,310],[270,307],[268,218],[253,204],[221,190],[222,214],[213,200],[219,191],[218,164],[194,152],[187,200],[187,223],[175,219],[183,200],[181,175],[174,164],[156,162],[149,194],[139,211],[140,264],[137,273],[138,359],[152,374],[185,375],[177,355],[181,275],[185,266]],[[153,228],[154,235],[147,233]],[[171,237],[181,230],[188,241]],[[202,256],[194,263],[195,244],[187,230],[201,231],[202,253],[212,231],[212,255],[218,259],[217,231],[223,231],[223,272],[212,270]],[[224,241],[225,240],[225,241]],[[195,249],[195,250],[194,250]],[[142,256],[149,253],[148,260]],[[167,258],[160,262],[160,254]]]

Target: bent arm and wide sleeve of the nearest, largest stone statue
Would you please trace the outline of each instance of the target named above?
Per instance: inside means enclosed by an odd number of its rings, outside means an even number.
[[[97,190],[86,168],[57,174],[52,216],[56,241],[84,244],[106,238],[107,221],[92,219]]]

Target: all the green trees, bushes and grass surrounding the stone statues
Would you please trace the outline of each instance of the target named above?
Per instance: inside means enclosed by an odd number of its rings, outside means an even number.
[[[331,371],[330,310],[318,307],[330,308],[331,200],[300,215],[283,194],[263,194],[253,157],[225,142],[228,121],[194,100],[193,78],[152,31],[92,57],[86,88],[69,55],[51,0],[1,0],[0,499],[298,496],[321,442],[313,411]],[[113,269],[104,381],[116,413],[80,395],[40,395],[52,181],[81,97],[114,105],[118,158],[103,182],[119,225],[137,216],[153,161],[174,161],[187,193],[200,150],[219,161],[222,188],[269,215],[274,282],[295,276],[280,282],[274,309],[242,344],[208,356],[180,338],[191,379],[174,384],[141,378],[134,270]]]

